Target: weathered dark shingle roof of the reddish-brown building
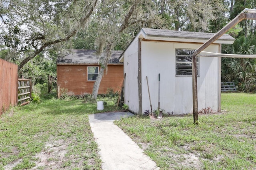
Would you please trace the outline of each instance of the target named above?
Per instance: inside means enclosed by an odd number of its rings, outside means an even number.
[[[112,51],[109,64],[121,64],[119,57],[123,51]],[[102,54],[103,55],[103,54]],[[101,55],[101,56],[102,56]],[[57,59],[57,65],[68,64],[98,64],[100,56],[93,49],[70,49],[62,52]]]

